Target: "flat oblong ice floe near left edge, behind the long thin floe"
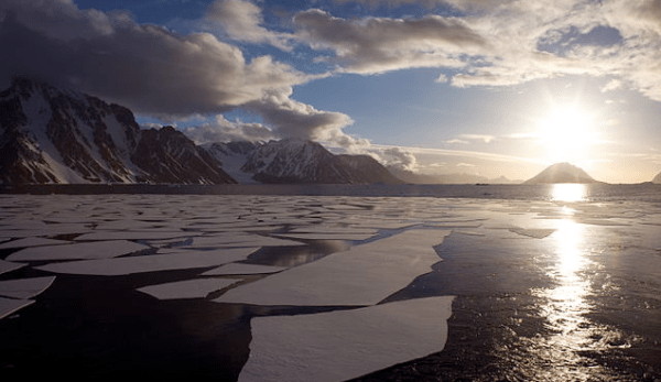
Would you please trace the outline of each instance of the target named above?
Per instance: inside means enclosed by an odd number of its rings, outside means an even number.
[[[108,259],[148,250],[148,245],[126,240],[98,241],[63,245],[26,248],[10,254],[7,260],[41,261],[72,259]]]

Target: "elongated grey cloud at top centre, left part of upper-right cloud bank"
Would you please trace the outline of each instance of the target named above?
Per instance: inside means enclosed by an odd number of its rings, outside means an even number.
[[[318,61],[339,72],[378,74],[413,67],[463,67],[462,55],[488,50],[487,41],[457,18],[340,19],[312,9],[294,17],[299,41],[335,56]]]

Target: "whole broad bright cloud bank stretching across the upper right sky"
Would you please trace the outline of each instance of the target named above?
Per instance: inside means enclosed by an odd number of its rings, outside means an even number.
[[[372,8],[411,0],[336,0]],[[661,100],[661,3],[657,0],[429,0],[457,17],[342,19],[312,9],[294,17],[296,39],[337,72],[452,69],[455,87],[513,86],[565,75],[613,76]],[[610,86],[615,86],[611,83]]]

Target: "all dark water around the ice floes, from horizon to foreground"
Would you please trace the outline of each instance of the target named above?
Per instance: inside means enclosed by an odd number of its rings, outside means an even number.
[[[452,229],[436,247],[443,261],[383,302],[456,296],[445,348],[356,381],[661,381],[661,185],[40,186],[3,192],[273,196],[250,199],[254,207],[290,199],[282,195],[343,196],[343,203],[365,212],[378,209],[379,197],[388,197],[397,207],[383,212],[388,218],[415,218],[436,207],[456,216],[484,217],[479,228]],[[121,203],[140,210],[148,200]],[[169,199],[159,203],[163,200]],[[305,199],[295,216],[323,220],[318,208],[328,200]],[[30,199],[12,208],[32,211],[33,204],[43,207]],[[10,207],[3,207],[3,217],[13,214]],[[35,215],[41,210],[36,207]],[[201,211],[215,214],[209,208],[205,205]],[[554,215],[565,209],[575,215]],[[345,214],[349,218],[357,212]],[[502,228],[502,219],[523,214],[538,214],[542,222],[552,223],[553,234],[531,238]],[[357,244],[306,243],[262,248],[247,262],[293,266]],[[0,259],[13,251],[1,250]],[[236,381],[250,351],[252,317],[347,308],[158,301],[136,291],[204,271],[57,275],[35,304],[0,320],[0,380],[46,372],[73,379]],[[43,275],[25,268],[0,280]],[[243,283],[260,277],[264,275],[245,276]]]

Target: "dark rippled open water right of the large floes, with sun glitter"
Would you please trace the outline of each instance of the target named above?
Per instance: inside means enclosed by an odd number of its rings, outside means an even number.
[[[617,238],[586,237],[563,263],[541,242],[451,236],[391,297],[456,295],[445,349],[356,381],[660,381],[661,253],[621,259],[603,251]]]

